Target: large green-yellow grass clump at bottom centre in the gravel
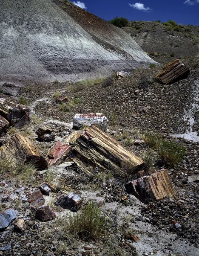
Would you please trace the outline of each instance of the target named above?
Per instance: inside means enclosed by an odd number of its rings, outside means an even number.
[[[101,215],[101,209],[94,202],[89,202],[77,213],[71,214],[65,225],[62,225],[62,237],[68,233],[84,239],[98,239],[105,233],[105,218]]]

